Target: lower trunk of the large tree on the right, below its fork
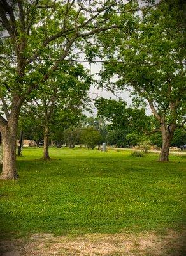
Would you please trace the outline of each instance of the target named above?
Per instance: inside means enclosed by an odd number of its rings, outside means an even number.
[[[159,155],[159,162],[168,162],[169,161],[169,148],[171,145],[171,140],[174,135],[175,128],[171,129],[171,127],[165,128],[165,126],[161,127],[162,132],[162,148],[161,153]]]

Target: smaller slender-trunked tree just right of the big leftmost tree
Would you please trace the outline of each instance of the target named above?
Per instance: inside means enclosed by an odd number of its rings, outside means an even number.
[[[45,86],[41,86],[42,93],[38,93],[31,102],[26,102],[25,113],[32,118],[40,120],[40,126],[44,134],[43,159],[50,159],[49,136],[55,125],[60,124],[64,111],[71,110],[69,115],[81,116],[82,107],[87,99],[90,86],[90,77],[83,66],[75,63],[66,63],[64,72],[57,72],[55,79],[48,79]],[[69,118],[69,116],[68,116]],[[73,125],[72,122],[69,125]],[[65,127],[64,127],[65,128]]]

